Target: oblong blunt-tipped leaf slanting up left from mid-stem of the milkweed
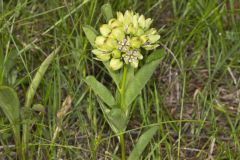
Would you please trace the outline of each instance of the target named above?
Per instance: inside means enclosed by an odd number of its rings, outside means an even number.
[[[111,92],[93,76],[88,76],[85,80],[88,86],[94,91],[94,93],[109,107],[116,104]]]

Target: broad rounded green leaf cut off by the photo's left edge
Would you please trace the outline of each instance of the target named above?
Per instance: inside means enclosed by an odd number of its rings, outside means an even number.
[[[20,103],[12,88],[0,86],[0,108],[13,127],[16,144],[20,144]]]

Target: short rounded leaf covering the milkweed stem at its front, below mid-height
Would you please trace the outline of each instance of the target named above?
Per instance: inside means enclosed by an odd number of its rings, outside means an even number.
[[[111,125],[117,128],[117,133],[124,131],[127,127],[127,117],[120,108],[111,109],[107,116]]]

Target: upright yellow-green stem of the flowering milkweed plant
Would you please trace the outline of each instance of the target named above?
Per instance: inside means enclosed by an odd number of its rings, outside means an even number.
[[[120,88],[120,107],[122,111],[125,111],[125,99],[124,99],[124,92],[126,87],[126,79],[127,79],[127,66],[124,65],[123,68],[123,75],[122,75],[122,82],[121,82],[121,88]],[[125,160],[125,142],[124,142],[124,133],[122,132],[120,134],[120,143],[121,143],[121,152],[122,152],[122,160]]]

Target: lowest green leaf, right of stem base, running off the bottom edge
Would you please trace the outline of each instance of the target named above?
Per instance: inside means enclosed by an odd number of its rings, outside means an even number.
[[[147,147],[153,136],[156,134],[158,128],[158,126],[152,127],[141,135],[133,151],[130,153],[128,160],[140,159],[142,152]]]

